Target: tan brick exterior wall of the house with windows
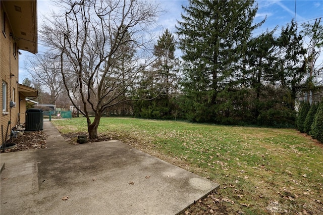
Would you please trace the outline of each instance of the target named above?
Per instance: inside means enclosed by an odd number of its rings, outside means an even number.
[[[7,94],[6,94],[6,106],[4,110],[3,106],[3,87],[1,87],[1,109],[0,109],[0,124],[3,126],[4,136],[6,136],[5,132],[7,130],[8,121],[11,122],[9,125],[9,131],[7,136],[10,134],[11,128],[14,127],[18,123],[18,112],[19,112],[19,96],[18,96],[18,48],[17,44],[15,45],[15,40],[10,35],[12,32],[12,28],[10,26],[9,19],[7,17],[4,18],[6,13],[5,8],[3,7],[3,2],[1,2],[0,6],[1,16],[1,32],[0,32],[0,46],[1,46],[1,63],[0,63],[0,79],[1,85],[6,83],[7,85]],[[4,28],[5,26],[5,28]],[[14,47],[15,50],[14,50]],[[10,108],[10,101],[16,102],[16,106]],[[2,138],[1,138],[2,139]],[[3,140],[1,140],[1,143]]]

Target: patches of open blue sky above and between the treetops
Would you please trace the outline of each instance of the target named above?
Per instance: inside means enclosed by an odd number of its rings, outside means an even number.
[[[238,1],[238,0],[234,0]],[[38,29],[42,25],[43,16],[49,14],[50,10],[55,9],[49,0],[38,0]],[[163,29],[168,28],[171,32],[175,31],[175,25],[177,20],[181,20],[181,13],[183,12],[182,5],[187,6],[188,1],[176,1],[176,0],[161,0],[158,1],[160,6],[163,7],[166,12],[157,19],[160,27],[156,29],[156,33],[163,33]],[[323,0],[258,0],[258,13],[255,18],[255,22],[260,22],[266,17],[266,22],[260,29],[255,30],[255,34],[264,32],[266,29],[273,30],[278,25],[279,32],[282,26],[286,26],[293,18],[295,19],[295,5],[296,5],[296,21],[299,24],[304,22],[314,23],[315,18],[322,17],[321,23],[323,24]],[[295,4],[296,3],[296,4]],[[40,42],[40,41],[39,41]],[[42,44],[38,44],[38,53],[41,54],[45,50]],[[19,83],[25,77],[28,77],[28,73],[24,70],[25,59],[32,58],[33,55],[27,51],[21,51],[20,56],[20,75]],[[323,53],[318,63],[323,62]]]

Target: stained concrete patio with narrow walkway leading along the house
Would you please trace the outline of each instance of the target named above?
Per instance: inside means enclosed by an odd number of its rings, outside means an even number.
[[[1,214],[176,214],[219,187],[117,140],[44,132],[48,148],[0,155]]]

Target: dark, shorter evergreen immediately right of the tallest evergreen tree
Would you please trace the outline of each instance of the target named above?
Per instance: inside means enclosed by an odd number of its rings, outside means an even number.
[[[265,32],[249,40],[247,53],[243,60],[246,64],[244,71],[243,86],[250,87],[255,94],[254,99],[250,100],[251,116],[254,120],[258,119],[260,114],[265,114],[267,110],[273,108],[273,101],[277,98],[270,94],[272,87],[268,86],[275,83],[275,73],[277,71],[278,58],[276,56],[277,41],[274,38],[275,30]],[[266,114],[265,114],[266,115]],[[263,121],[263,116],[260,120]],[[266,117],[267,120],[270,120]]]

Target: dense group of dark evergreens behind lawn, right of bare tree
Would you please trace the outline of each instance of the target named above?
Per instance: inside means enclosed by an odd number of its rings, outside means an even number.
[[[294,127],[295,104],[323,95],[313,78],[320,70],[313,65],[323,45],[322,25],[316,20],[297,31],[292,20],[278,36],[277,29],[253,35],[264,22],[253,24],[253,5],[249,0],[189,1],[176,32],[181,72],[171,70],[178,75],[173,85],[179,91],[135,102],[135,116],[174,119],[176,113],[192,122]],[[162,74],[163,65],[157,69]]]

